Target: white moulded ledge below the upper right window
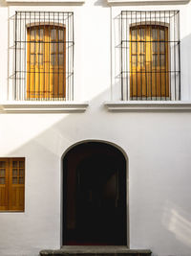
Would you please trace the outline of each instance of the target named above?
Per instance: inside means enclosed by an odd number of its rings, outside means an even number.
[[[138,110],[190,110],[191,101],[117,101],[105,102],[104,105],[109,111],[138,111]]]

